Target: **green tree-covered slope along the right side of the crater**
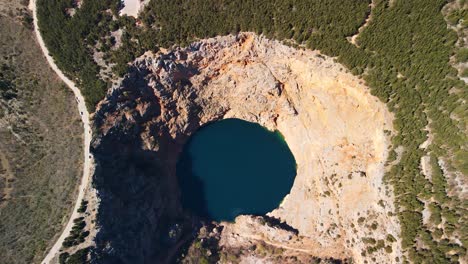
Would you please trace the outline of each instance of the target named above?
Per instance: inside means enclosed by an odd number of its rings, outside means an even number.
[[[395,113],[399,134],[393,144],[405,149],[401,162],[387,177],[397,198],[403,247],[416,263],[426,259],[455,262],[466,254],[468,245],[466,204],[447,195],[448,184],[439,165],[445,160],[455,167],[452,171],[468,173],[463,158],[467,155],[467,108],[462,103],[467,87],[449,65],[456,35],[447,29],[440,12],[444,4],[396,1],[390,7],[378,1],[375,19],[358,38],[360,47],[373,54],[372,68],[364,78],[373,94],[388,102]],[[427,138],[426,128],[434,139],[424,151],[419,145]],[[430,180],[419,170],[420,159],[427,153],[431,155]],[[420,212],[424,202],[431,200],[432,225],[424,225]],[[435,228],[442,222],[442,229]],[[442,234],[460,239],[462,245],[442,239]],[[416,241],[423,241],[429,250],[417,248]]]

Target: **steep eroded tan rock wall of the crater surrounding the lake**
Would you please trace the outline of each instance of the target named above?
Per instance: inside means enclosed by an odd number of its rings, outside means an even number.
[[[264,240],[302,255],[358,263],[389,263],[401,255],[399,243],[386,241],[388,234],[398,238],[399,225],[388,214],[393,198],[382,182],[391,131],[384,104],[331,58],[244,33],[147,53],[100,104],[93,148],[101,256],[126,263],[172,257],[178,243],[168,231],[174,223],[191,223],[179,202],[178,154],[200,126],[223,118],[284,135],[297,176],[269,216],[297,234],[243,216],[219,224],[221,248]],[[384,240],[387,252],[362,254],[372,246],[364,237]],[[240,259],[259,259],[249,254]]]

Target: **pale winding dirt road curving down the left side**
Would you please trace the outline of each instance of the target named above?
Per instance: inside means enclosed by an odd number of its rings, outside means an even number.
[[[91,157],[91,154],[89,152],[90,144],[91,144],[91,126],[90,126],[90,119],[89,119],[89,113],[88,110],[86,109],[86,104],[83,96],[81,95],[80,90],[75,86],[75,84],[68,79],[63,72],[57,67],[57,65],[54,62],[54,59],[49,55],[49,51],[47,50],[47,47],[44,43],[44,40],[42,39],[41,33],[39,31],[39,26],[37,23],[37,6],[36,6],[36,1],[37,0],[31,0],[29,4],[29,8],[31,9],[33,13],[33,20],[34,20],[34,33],[36,34],[36,39],[37,42],[39,43],[39,46],[41,47],[42,53],[44,54],[45,58],[47,59],[47,62],[49,63],[50,67],[55,71],[55,73],[62,79],[62,81],[73,91],[73,94],[75,95],[75,98],[78,103],[78,110],[80,111],[81,114],[81,121],[83,122],[83,129],[84,129],[84,165],[83,165],[83,176],[81,177],[81,184],[79,186],[79,191],[78,191],[78,196],[76,197],[76,202],[75,206],[73,207],[73,213],[70,216],[70,219],[68,220],[67,225],[62,231],[62,234],[60,237],[57,239],[53,247],[49,250],[47,255],[45,256],[44,260],[42,261],[43,264],[50,263],[52,259],[59,253],[60,248],[62,247],[62,243],[65,240],[66,237],[70,235],[70,231],[73,227],[73,220],[79,216],[78,213],[78,208],[80,206],[81,200],[84,197],[85,189],[88,186],[90,175],[91,175],[91,169],[93,168],[93,160]]]

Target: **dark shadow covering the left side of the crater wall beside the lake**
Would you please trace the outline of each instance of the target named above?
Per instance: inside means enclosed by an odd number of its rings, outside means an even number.
[[[197,225],[182,209],[175,174],[188,135],[173,139],[167,126],[157,121],[161,105],[175,107],[174,91],[183,93],[190,83],[184,79],[169,88],[160,83],[150,87],[147,75],[147,70],[133,68],[94,118],[93,187],[100,201],[93,263],[171,261],[180,241],[192,236]],[[191,130],[199,123],[197,109],[193,111]],[[143,142],[146,130],[154,140]],[[148,148],[148,142],[158,146]]]

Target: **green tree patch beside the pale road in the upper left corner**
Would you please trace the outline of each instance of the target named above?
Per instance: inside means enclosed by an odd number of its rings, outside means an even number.
[[[99,78],[92,50],[112,19],[107,9],[118,10],[119,0],[83,1],[69,15],[73,0],[38,0],[39,28],[47,47],[60,67],[81,88],[89,109],[103,97],[108,85]]]

